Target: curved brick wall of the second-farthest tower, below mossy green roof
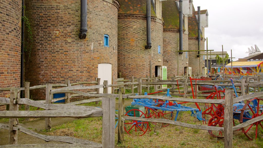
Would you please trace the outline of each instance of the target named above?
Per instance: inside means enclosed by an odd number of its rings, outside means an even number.
[[[164,30],[164,65],[167,66],[167,76],[177,76],[177,64],[179,64],[179,76],[184,75],[184,67],[188,67],[188,58],[186,58],[186,52],[183,55],[179,55],[179,63],[177,63],[178,56],[178,38],[179,31]],[[188,35],[183,33],[183,50],[188,50]]]

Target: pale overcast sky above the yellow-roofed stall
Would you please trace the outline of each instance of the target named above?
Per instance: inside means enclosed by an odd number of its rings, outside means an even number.
[[[193,4],[196,11],[198,6],[208,10],[209,50],[222,51],[223,45],[230,57],[232,49],[233,61],[248,56],[250,46],[263,52],[263,0],[193,0]]]

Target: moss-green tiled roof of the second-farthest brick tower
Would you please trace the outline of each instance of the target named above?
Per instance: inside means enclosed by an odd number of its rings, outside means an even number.
[[[179,29],[179,11],[174,0],[162,2],[164,28]]]

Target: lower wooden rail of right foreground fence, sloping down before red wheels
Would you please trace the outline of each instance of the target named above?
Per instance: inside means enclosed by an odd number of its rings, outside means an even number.
[[[223,127],[216,127],[216,126],[206,126],[206,125],[193,125],[183,122],[178,122],[174,120],[168,120],[168,119],[152,119],[152,118],[140,118],[140,117],[130,117],[130,116],[124,116],[125,120],[139,120],[139,121],[148,121],[148,122],[158,122],[158,123],[168,123],[183,127],[189,127],[193,129],[201,129],[201,130],[212,130],[212,131],[224,131]]]

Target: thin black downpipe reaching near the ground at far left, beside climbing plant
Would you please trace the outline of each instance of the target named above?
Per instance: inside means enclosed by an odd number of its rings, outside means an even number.
[[[25,28],[25,23],[24,23],[24,12],[25,12],[25,4],[24,0],[22,0],[22,28],[21,28],[21,73],[20,73],[20,87],[23,87],[23,80],[24,80],[24,28]],[[23,98],[23,90],[21,90],[20,97]]]

